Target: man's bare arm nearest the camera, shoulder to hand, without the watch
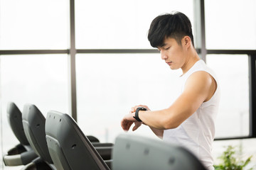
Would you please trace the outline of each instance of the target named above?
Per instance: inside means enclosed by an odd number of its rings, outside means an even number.
[[[216,89],[213,77],[207,72],[195,72],[187,79],[181,96],[169,107],[161,111],[139,111],[139,118],[151,128],[166,130],[177,128],[189,118],[204,101],[210,100]],[[125,122],[135,122],[134,113],[124,116],[122,128],[129,130]]]

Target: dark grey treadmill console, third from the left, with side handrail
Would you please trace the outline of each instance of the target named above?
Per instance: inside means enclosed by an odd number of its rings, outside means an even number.
[[[48,112],[46,140],[58,170],[110,169],[112,147],[94,147],[68,114]]]

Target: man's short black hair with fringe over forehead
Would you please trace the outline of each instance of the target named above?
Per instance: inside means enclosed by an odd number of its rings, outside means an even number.
[[[194,45],[189,18],[181,12],[165,13],[152,21],[148,39],[152,47],[161,47],[165,38],[174,38],[181,45],[181,39],[186,35],[191,38]]]

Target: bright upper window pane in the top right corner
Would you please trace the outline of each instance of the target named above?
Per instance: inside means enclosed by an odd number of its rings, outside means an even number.
[[[206,48],[255,50],[255,6],[255,0],[206,0]]]

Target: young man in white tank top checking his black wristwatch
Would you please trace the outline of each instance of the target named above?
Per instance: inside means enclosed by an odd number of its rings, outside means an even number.
[[[160,111],[134,106],[122,119],[123,130],[133,123],[132,130],[148,125],[157,136],[187,147],[207,169],[214,169],[211,150],[220,91],[214,72],[195,50],[191,22],[179,12],[157,16],[148,39],[171,69],[182,69],[182,91],[169,108]]]

